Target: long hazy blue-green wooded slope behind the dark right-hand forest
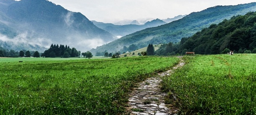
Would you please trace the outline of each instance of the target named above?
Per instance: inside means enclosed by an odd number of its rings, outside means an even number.
[[[210,24],[220,23],[222,20],[230,19],[234,15],[245,15],[249,11],[256,11],[256,3],[207,8],[200,12],[193,12],[171,23],[135,32],[91,51],[93,53],[105,50],[114,52],[121,50],[123,46],[128,47],[132,44],[141,48],[149,43],[179,42],[181,38],[189,37],[202,30],[202,28],[210,26]]]

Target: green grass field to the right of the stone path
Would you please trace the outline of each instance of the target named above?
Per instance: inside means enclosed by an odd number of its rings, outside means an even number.
[[[184,57],[187,64],[163,80],[167,103],[180,114],[255,115],[256,55]]]

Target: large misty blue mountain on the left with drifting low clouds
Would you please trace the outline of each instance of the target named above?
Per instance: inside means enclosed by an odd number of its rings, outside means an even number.
[[[117,39],[81,13],[48,0],[1,0],[0,28],[0,46],[16,50],[44,51],[53,43],[86,51]]]

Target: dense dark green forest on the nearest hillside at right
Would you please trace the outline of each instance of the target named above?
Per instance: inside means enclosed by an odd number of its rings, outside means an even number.
[[[191,37],[184,37],[179,43],[162,45],[156,55],[185,54],[220,54],[229,50],[234,53],[256,53],[256,12],[233,16],[219,24],[197,32]]]

